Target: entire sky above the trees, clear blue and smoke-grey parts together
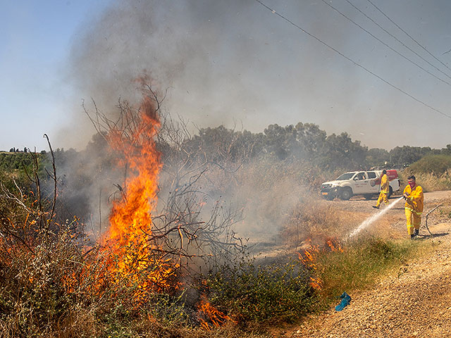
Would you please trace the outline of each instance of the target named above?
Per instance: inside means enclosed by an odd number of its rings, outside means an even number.
[[[451,67],[451,4],[373,0]],[[405,61],[321,0],[268,6],[342,54],[451,115],[450,87]],[[346,0],[329,2],[374,35],[451,82],[381,32]],[[352,3],[437,64],[371,7]],[[81,149],[94,132],[82,112],[92,97],[113,109],[144,69],[168,88],[166,108],[199,127],[261,132],[316,123],[369,147],[445,147],[451,118],[356,67],[254,0],[2,1],[0,150]],[[451,70],[437,64],[445,73]]]

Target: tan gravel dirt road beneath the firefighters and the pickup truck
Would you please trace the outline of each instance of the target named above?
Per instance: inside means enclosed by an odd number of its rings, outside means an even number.
[[[397,196],[393,196],[393,201]],[[378,284],[363,292],[351,294],[352,301],[343,311],[331,308],[326,313],[307,319],[302,326],[285,332],[283,337],[321,338],[410,338],[451,337],[451,192],[425,194],[425,213],[447,201],[428,218],[419,240],[433,243],[433,249],[421,258],[412,257],[400,270],[383,277]],[[353,198],[351,201],[330,201],[342,211],[361,216],[374,212],[376,201]],[[392,237],[407,237],[403,203],[390,210],[379,232]]]

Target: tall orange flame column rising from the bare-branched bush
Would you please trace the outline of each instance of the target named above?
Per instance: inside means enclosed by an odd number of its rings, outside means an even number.
[[[145,96],[139,115],[125,111],[130,130],[113,129],[108,141],[114,151],[125,156],[120,164],[128,165],[130,176],[125,187],[120,187],[122,199],[113,202],[109,217],[110,227],[102,244],[116,262],[110,270],[118,278],[140,281],[139,292],[152,289],[161,292],[169,287],[168,280],[175,274],[177,264],[164,258],[161,248],[152,242],[152,210],[156,206],[158,178],[162,167],[161,154],[156,150],[154,137],[160,127],[154,104]],[[142,280],[142,273],[145,280]],[[171,287],[174,287],[172,285]]]

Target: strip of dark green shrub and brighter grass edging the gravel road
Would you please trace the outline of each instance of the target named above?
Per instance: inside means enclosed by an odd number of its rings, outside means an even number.
[[[290,323],[336,302],[344,291],[371,286],[387,270],[407,261],[419,245],[367,238],[343,248],[314,247],[309,251],[311,264],[297,259],[260,266],[252,260],[223,265],[207,281],[209,301],[240,324]]]

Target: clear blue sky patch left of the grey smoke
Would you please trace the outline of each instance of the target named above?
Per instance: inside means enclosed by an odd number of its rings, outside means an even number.
[[[0,149],[47,149],[42,138],[64,123],[72,95],[65,81],[70,48],[109,1],[1,1]]]

